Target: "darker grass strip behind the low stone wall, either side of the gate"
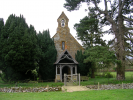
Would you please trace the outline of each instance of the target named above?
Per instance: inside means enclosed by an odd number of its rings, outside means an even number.
[[[102,73],[99,73],[102,74]],[[114,76],[114,78],[104,78],[104,77],[100,77],[100,78],[90,78],[88,81],[83,81],[81,82],[82,86],[86,86],[86,85],[96,85],[98,84],[98,82],[100,84],[121,84],[123,83],[133,83],[133,72],[126,72],[125,73],[125,77],[126,80],[124,81],[117,81],[116,80],[116,72],[111,72],[111,74]],[[64,83],[63,82],[43,82],[43,83],[17,83],[17,86],[21,86],[21,87],[46,87],[47,85],[49,85],[50,87],[57,87],[57,86],[63,86]],[[1,79],[0,79],[0,87],[14,87],[15,83],[4,83]]]

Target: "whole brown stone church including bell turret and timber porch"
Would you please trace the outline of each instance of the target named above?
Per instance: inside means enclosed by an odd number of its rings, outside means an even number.
[[[69,19],[64,12],[57,19],[57,32],[53,36],[57,50],[57,59],[54,63],[56,66],[56,81],[63,81],[64,73],[68,75],[77,74],[78,62],[75,60],[77,50],[83,50],[83,47],[71,35],[68,27]]]

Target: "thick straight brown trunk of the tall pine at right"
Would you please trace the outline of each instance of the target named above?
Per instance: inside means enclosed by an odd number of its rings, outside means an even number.
[[[125,28],[123,25],[122,16],[118,18],[118,33],[115,34],[117,39],[116,56],[120,62],[117,64],[117,80],[125,80],[125,43],[124,43],[124,33]]]

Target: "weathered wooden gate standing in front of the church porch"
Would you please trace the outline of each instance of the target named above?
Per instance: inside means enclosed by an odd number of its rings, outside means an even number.
[[[80,86],[80,73],[73,75],[64,74],[64,86],[74,86],[74,85]]]

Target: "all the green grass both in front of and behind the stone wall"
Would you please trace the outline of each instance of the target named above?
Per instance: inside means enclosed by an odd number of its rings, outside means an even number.
[[[113,78],[105,78],[102,76],[103,73],[97,73],[94,79],[89,78],[88,81],[81,81],[81,86],[88,86],[87,91],[77,91],[77,92],[66,92],[66,91],[43,91],[43,92],[15,92],[15,93],[7,93],[0,92],[0,100],[131,100],[133,98],[133,89],[125,89],[122,84],[132,85],[133,83],[133,72],[126,72],[126,80],[117,81],[115,79],[116,73],[111,72]],[[119,89],[98,90],[98,82],[99,86],[101,85],[110,85],[120,84]],[[63,82],[33,82],[29,81],[28,83],[4,83],[0,79],[0,88],[12,88],[12,87],[21,87],[21,88],[41,88],[41,87],[62,87],[64,85]],[[96,86],[97,88],[92,88]],[[124,86],[124,85],[123,85]],[[130,87],[131,87],[130,86]],[[91,89],[90,89],[91,87]]]

